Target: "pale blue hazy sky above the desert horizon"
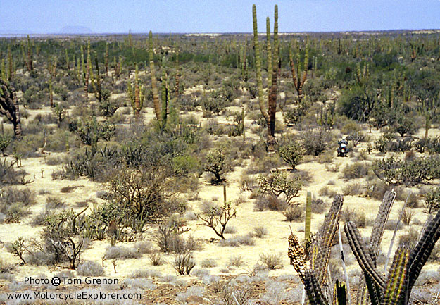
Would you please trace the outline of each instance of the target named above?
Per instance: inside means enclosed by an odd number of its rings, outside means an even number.
[[[440,0],[0,0],[0,34],[251,32],[254,3],[261,32],[274,4],[280,32],[440,28]]]

